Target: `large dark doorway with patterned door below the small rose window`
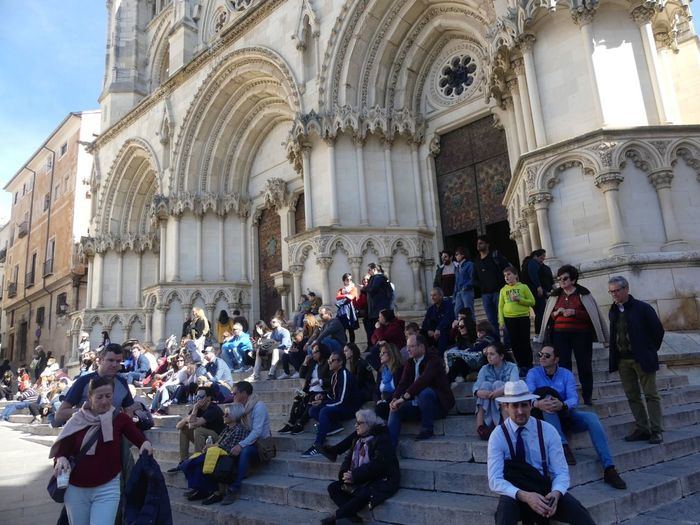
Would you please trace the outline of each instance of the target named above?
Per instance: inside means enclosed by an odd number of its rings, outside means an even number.
[[[511,173],[505,133],[486,117],[440,137],[435,158],[444,247],[464,247],[476,257],[477,236],[517,266],[518,250],[510,239],[502,204]]]

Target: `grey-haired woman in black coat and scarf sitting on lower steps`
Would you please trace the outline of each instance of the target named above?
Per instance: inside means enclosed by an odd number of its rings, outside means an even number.
[[[321,521],[324,525],[344,518],[362,521],[357,515],[360,510],[367,505],[376,508],[399,490],[399,461],[382,418],[372,410],[358,410],[355,432],[341,443],[336,447],[337,453],[349,452],[340,467],[338,481],[328,485],[328,494],[338,510]]]

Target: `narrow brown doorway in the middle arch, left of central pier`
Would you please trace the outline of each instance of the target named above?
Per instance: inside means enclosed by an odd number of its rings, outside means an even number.
[[[271,274],[282,271],[282,225],[277,212],[263,210],[258,223],[258,263],[260,272],[260,319],[269,324],[281,307]],[[285,314],[289,315],[288,312]]]

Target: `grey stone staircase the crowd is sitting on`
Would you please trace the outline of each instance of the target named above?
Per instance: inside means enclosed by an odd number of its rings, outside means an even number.
[[[622,437],[632,428],[632,417],[617,374],[607,372],[607,352],[595,350],[594,406],[607,431],[617,469],[628,484],[624,491],[602,482],[602,468],[586,433],[572,436],[570,444],[578,464],[570,467],[571,492],[591,511],[599,524],[634,520],[662,505],[700,493],[700,385],[688,376],[662,365],[657,376],[667,431],[662,445],[626,443]],[[241,378],[237,378],[241,379]],[[289,412],[299,380],[264,380],[254,384],[268,406],[273,430],[281,428]],[[444,525],[493,523],[497,499],[488,489],[487,443],[476,435],[472,383],[455,385],[457,405],[447,419],[438,421],[436,437],[417,442],[417,423],[404,424],[400,443],[401,489],[373,511],[370,523]],[[170,415],[156,416],[148,432],[163,470],[178,460],[175,423],[187,406],[171,406]],[[31,416],[16,414],[11,425],[27,439],[50,444],[56,430],[29,425]],[[324,457],[302,458],[313,442],[311,424],[297,435],[275,433],[278,454],[266,465],[255,467],[244,482],[240,499],[229,507],[206,507],[182,497],[186,482],[182,474],[166,474],[173,508],[191,515],[192,522],[212,524],[318,523],[334,510],[326,487],[337,479],[338,462]],[[330,438],[334,443],[352,431]],[[196,517],[195,517],[196,516]]]

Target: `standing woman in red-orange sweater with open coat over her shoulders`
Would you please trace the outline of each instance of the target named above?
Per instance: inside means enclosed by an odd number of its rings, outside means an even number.
[[[565,264],[557,271],[559,288],[552,291],[544,309],[542,329],[537,337],[557,349],[559,366],[573,370],[576,357],[583,402],[593,404],[593,341],[607,346],[608,325],[590,290],[578,284],[578,270]]]

